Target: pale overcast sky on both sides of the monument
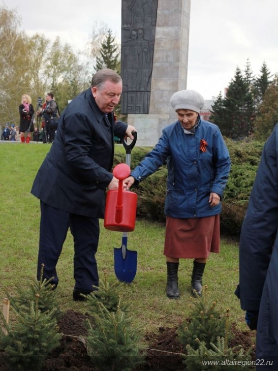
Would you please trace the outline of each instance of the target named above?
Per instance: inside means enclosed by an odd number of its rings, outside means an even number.
[[[120,0],[0,0],[16,9],[21,28],[82,49],[92,29],[105,23],[120,39]],[[236,67],[249,58],[254,74],[265,61],[278,73],[277,0],[191,0],[188,89],[205,99],[224,93]]]

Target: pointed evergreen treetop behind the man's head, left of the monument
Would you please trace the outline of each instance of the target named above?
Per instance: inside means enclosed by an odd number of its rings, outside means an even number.
[[[119,73],[119,46],[115,42],[112,30],[108,29],[108,34],[101,43],[100,56],[97,57],[96,70],[110,68]]]

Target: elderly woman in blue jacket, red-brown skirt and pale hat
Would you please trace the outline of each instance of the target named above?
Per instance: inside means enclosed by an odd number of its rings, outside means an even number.
[[[167,162],[166,293],[178,298],[179,259],[194,259],[191,292],[201,295],[208,256],[220,251],[219,214],[231,161],[219,128],[200,118],[204,99],[197,91],[177,91],[170,104],[177,121],[163,129],[124,184],[130,189]]]

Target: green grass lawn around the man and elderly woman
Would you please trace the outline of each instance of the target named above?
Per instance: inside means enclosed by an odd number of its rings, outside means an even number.
[[[0,300],[7,291],[16,292],[16,285],[27,287],[36,276],[39,241],[39,200],[30,194],[33,180],[42,163],[49,144],[1,143],[0,176]],[[116,146],[116,151],[122,146]],[[116,280],[113,249],[120,248],[121,233],[107,231],[101,224],[101,236],[97,261],[100,279],[104,270],[109,283]],[[138,252],[137,274],[131,284],[120,288],[122,301],[128,303],[134,323],[142,331],[157,330],[160,326],[176,326],[189,315],[190,280],[192,260],[180,260],[179,288],[181,297],[170,300],[166,297],[166,263],[163,255],[164,225],[137,220],[134,232],[128,234],[128,249]],[[86,304],[73,302],[73,241],[68,233],[60,256],[57,271],[60,283],[57,298],[61,310],[85,312]],[[222,238],[221,253],[211,254],[203,283],[208,286],[212,298],[218,300],[223,313],[230,309],[231,321],[246,329],[244,313],[234,295],[238,283],[237,242]]]

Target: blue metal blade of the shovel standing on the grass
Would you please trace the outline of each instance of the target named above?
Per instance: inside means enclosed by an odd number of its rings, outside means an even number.
[[[137,251],[126,249],[125,254],[123,258],[122,248],[114,248],[114,271],[119,281],[130,284],[136,275]]]

